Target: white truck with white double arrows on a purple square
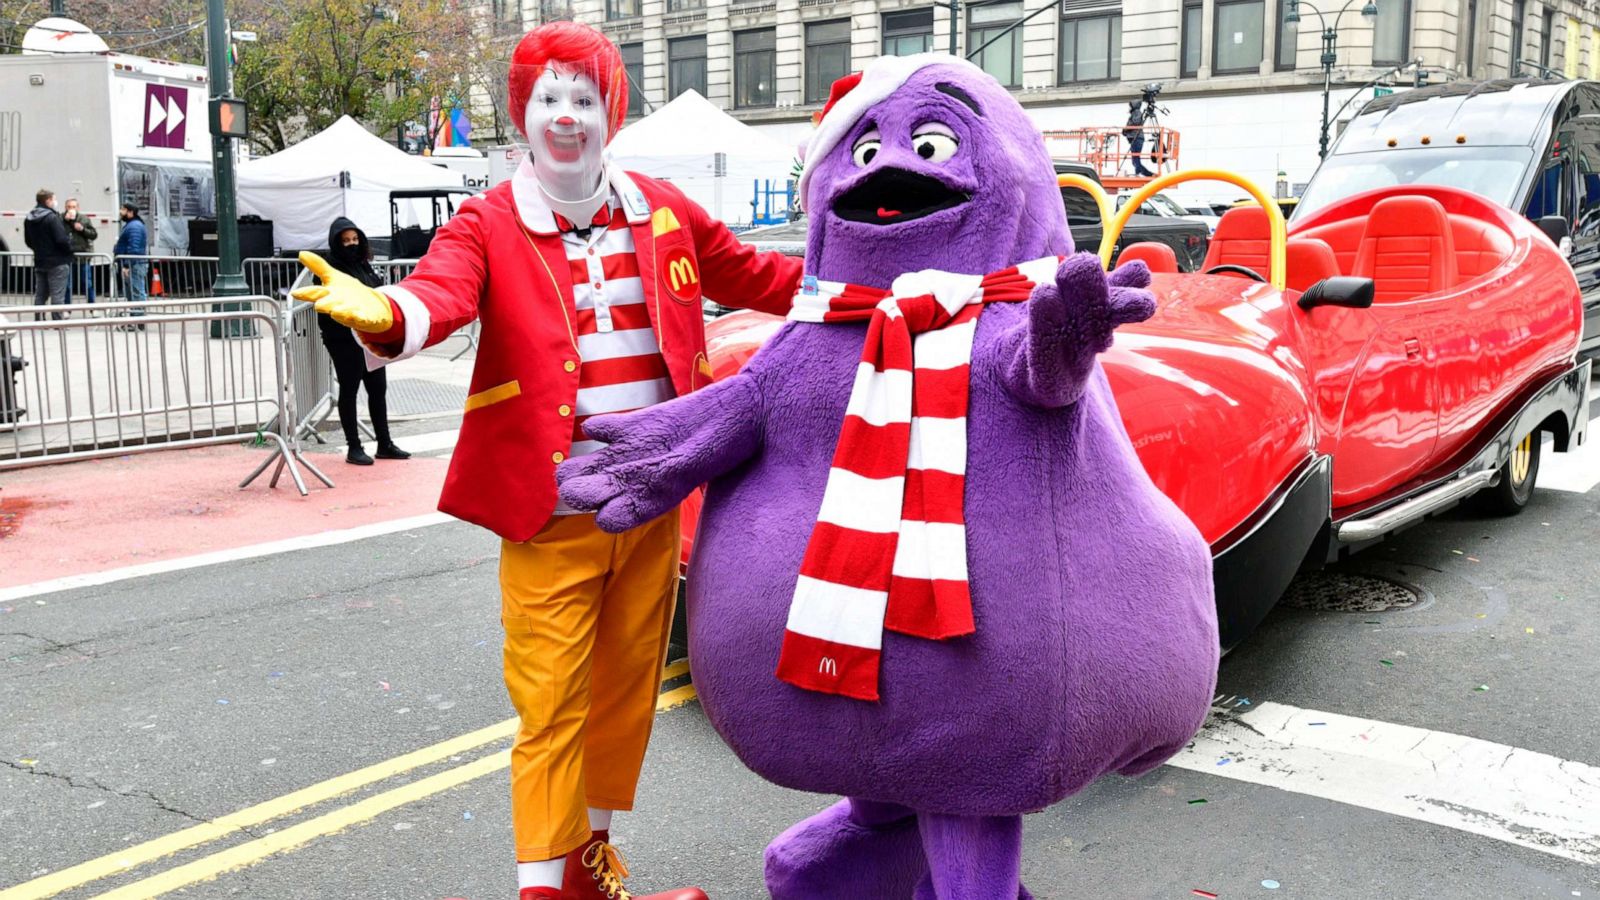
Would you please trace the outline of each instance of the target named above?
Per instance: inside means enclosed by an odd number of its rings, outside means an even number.
[[[147,251],[184,255],[189,219],[216,215],[206,94],[200,66],[82,50],[0,56],[0,250],[26,251],[22,219],[45,187],[61,208],[78,199],[98,253],[117,242],[126,197]]]

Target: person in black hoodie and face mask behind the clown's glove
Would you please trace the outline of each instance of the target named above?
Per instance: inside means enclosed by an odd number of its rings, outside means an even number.
[[[384,280],[373,271],[373,248],[366,242],[366,234],[350,219],[339,216],[328,227],[328,261],[334,269],[360,280],[366,287],[378,287]],[[362,448],[362,432],[355,420],[355,394],[366,384],[366,410],[373,418],[373,431],[378,434],[379,460],[406,460],[411,455],[395,447],[389,437],[389,380],[382,368],[366,370],[366,356],[355,343],[355,335],[339,325],[331,315],[317,314],[317,327],[322,330],[322,344],[333,357],[333,373],[339,380],[339,424],[344,426],[344,442],[349,452],[344,456],[352,466],[371,466],[373,458]]]

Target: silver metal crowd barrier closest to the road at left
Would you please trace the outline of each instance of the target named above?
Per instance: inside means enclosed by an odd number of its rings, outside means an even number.
[[[274,461],[272,487],[288,469],[304,496],[299,466],[333,487],[301,453],[294,431],[272,424],[294,421],[285,304],[262,296],[203,299],[0,314],[0,471],[235,444],[253,434],[274,452],[240,487]],[[67,319],[53,320],[51,312]],[[235,340],[216,341],[216,333]]]

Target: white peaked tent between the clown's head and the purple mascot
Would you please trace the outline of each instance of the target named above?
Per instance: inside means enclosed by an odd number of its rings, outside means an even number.
[[[622,128],[608,147],[624,170],[670,181],[715,219],[750,221],[755,183],[782,189],[792,176],[795,149],[762,135],[717,109],[696,91]],[[725,154],[717,178],[715,157]]]

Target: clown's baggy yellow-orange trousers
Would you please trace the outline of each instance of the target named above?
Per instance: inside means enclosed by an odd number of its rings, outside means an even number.
[[[555,516],[501,546],[517,860],[589,839],[587,807],[632,809],[678,586],[678,514],[622,535]]]

